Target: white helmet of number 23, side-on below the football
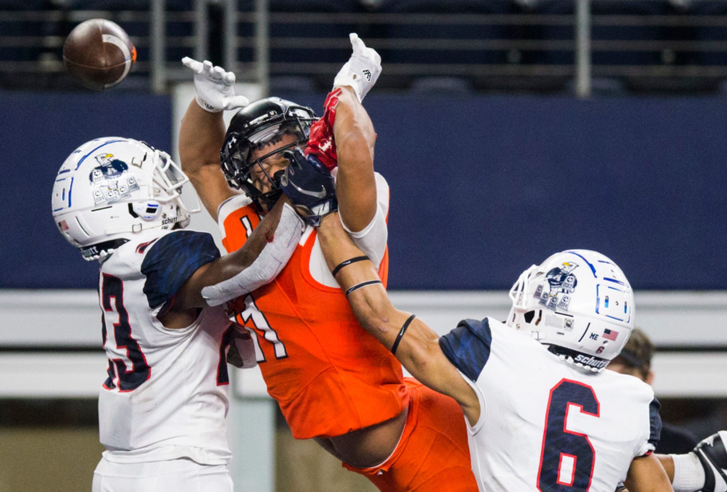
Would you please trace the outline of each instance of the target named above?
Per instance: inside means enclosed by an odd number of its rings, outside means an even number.
[[[144,142],[104,137],[84,143],[60,166],[53,219],[87,260],[105,257],[142,230],[186,227],[180,193],[189,178],[169,154]]]

